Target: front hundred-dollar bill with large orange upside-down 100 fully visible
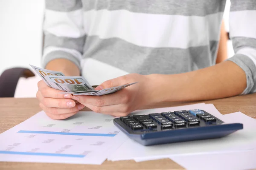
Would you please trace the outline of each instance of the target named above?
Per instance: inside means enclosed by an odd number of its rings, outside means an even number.
[[[65,92],[92,91],[94,88],[81,76],[46,76],[45,79],[50,85]]]

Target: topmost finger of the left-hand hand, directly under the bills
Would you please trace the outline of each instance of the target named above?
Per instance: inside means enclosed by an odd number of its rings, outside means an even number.
[[[41,92],[43,97],[55,98],[55,99],[71,99],[72,94],[60,94],[63,91],[50,88],[46,83],[41,80],[38,82],[38,90]]]

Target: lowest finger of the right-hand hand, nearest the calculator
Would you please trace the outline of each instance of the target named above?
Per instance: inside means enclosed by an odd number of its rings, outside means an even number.
[[[111,113],[124,113],[128,114],[131,112],[131,106],[128,104],[120,104],[120,105],[108,105],[108,106],[95,106],[90,104],[85,104],[87,108],[90,108],[92,111],[96,113],[104,113],[104,114],[111,114]]]

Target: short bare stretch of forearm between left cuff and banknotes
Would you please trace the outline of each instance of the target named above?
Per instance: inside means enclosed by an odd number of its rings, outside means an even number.
[[[47,63],[46,69],[61,71],[65,76],[80,76],[79,68],[68,59],[53,59]]]

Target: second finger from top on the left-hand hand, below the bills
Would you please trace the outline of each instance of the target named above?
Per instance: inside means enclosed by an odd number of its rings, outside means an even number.
[[[37,98],[47,108],[73,108],[76,105],[76,102],[72,99],[46,98],[40,92],[38,92]]]

